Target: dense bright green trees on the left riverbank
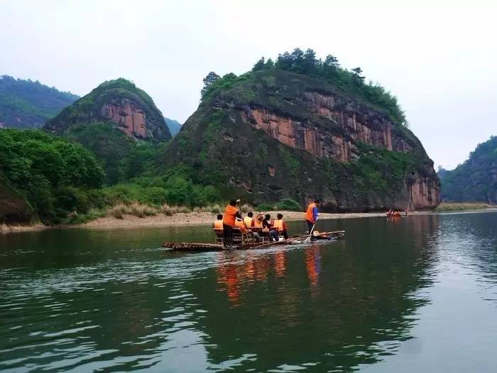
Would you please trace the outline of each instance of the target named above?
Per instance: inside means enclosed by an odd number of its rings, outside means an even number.
[[[39,130],[0,131],[0,175],[49,223],[89,208],[85,191],[104,181],[90,151]]]

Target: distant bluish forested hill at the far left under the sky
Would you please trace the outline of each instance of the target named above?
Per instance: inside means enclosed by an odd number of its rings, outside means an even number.
[[[38,128],[79,97],[32,80],[0,77],[0,128]]]

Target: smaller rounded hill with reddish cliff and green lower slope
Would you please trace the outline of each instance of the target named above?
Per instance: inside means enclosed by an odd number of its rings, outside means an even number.
[[[155,149],[171,139],[151,97],[122,78],[103,82],[43,128],[95,153],[104,166],[107,184],[148,171]]]

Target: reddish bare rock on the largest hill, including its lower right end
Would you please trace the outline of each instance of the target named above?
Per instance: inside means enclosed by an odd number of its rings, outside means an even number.
[[[304,102],[311,116],[317,115],[326,120],[295,119],[261,107],[245,108],[241,118],[244,123],[261,129],[286,146],[342,163],[353,161],[359,156],[358,143],[403,153],[411,153],[414,151],[413,146],[417,146],[410,143],[384,114],[366,109],[356,102],[344,102],[341,97],[320,92],[305,92]],[[404,197],[398,201],[399,206],[407,207],[405,199],[410,200],[411,210],[437,206],[440,199],[439,183],[432,165],[423,169],[421,174],[415,172],[406,178],[405,187],[400,193]]]

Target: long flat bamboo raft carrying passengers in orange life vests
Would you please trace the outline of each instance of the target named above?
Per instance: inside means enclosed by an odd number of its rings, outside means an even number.
[[[335,232],[322,232],[320,234],[315,234],[315,238],[320,239],[320,242],[326,242],[327,240],[342,239],[345,236],[345,231],[335,231]],[[204,242],[166,242],[162,243],[162,247],[170,249],[175,252],[224,252],[227,250],[247,250],[247,249],[259,249],[261,247],[271,247],[277,245],[291,244],[295,242],[302,242],[308,236],[297,236],[290,239],[283,239],[283,241],[276,242],[250,242],[244,244],[238,244],[228,249],[222,244],[207,244]]]

